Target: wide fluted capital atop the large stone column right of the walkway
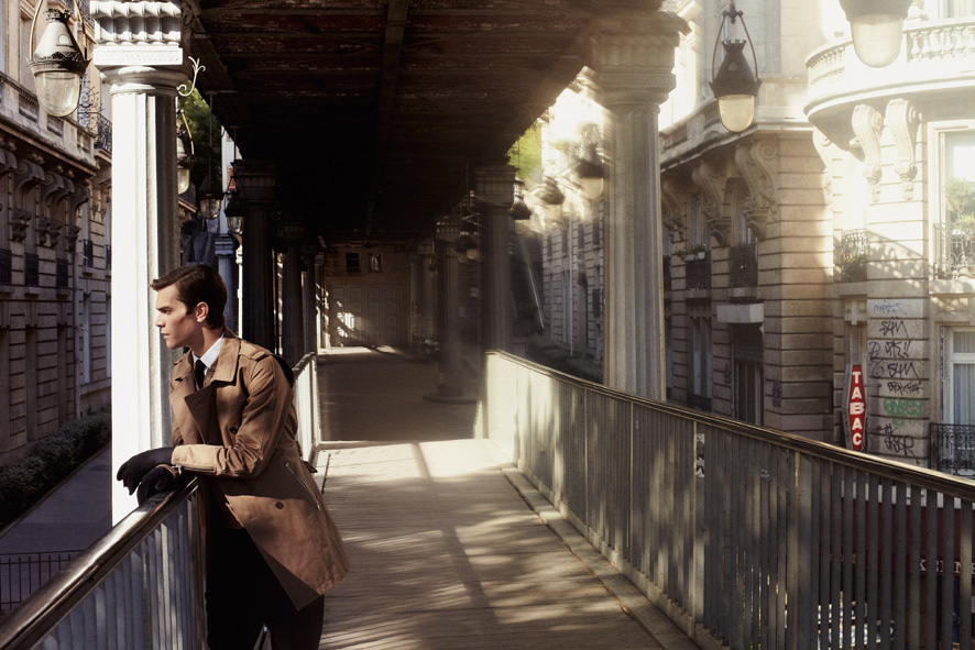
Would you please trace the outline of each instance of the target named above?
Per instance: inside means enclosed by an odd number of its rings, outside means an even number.
[[[596,20],[592,67],[610,109],[659,106],[676,86],[673,54],[687,23],[670,13],[617,12]]]

